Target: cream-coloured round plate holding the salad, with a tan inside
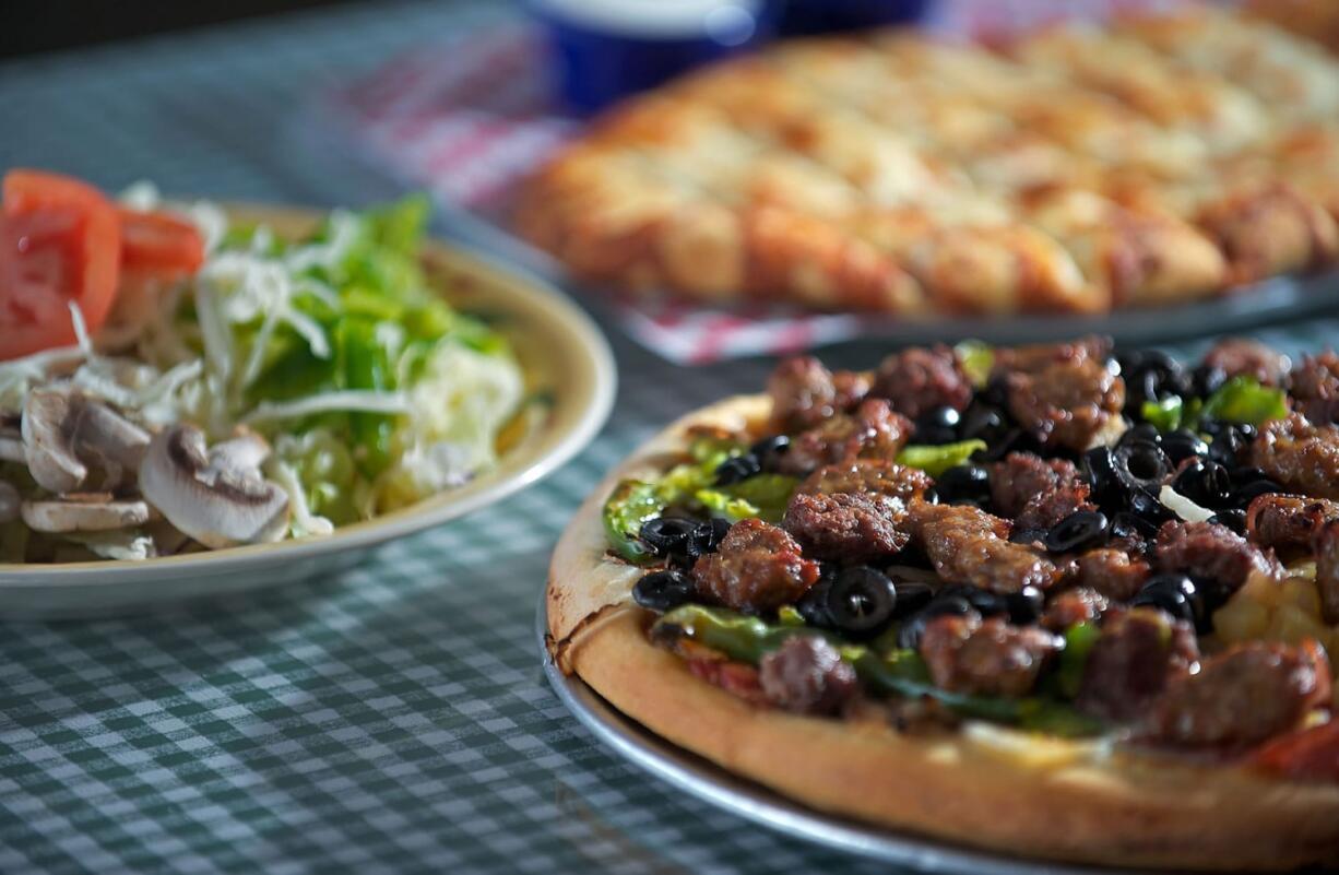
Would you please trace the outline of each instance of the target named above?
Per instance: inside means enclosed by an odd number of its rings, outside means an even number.
[[[279,239],[316,229],[316,212],[228,208],[234,224]],[[68,618],[146,610],[260,590],[351,567],[387,541],[458,519],[534,484],[580,452],[604,425],[616,375],[608,343],[561,292],[533,276],[426,240],[426,275],[453,308],[477,315],[510,344],[525,379],[526,422],[503,427],[497,461],[461,485],[324,536],[159,556],[139,561],[0,563],[0,616]]]

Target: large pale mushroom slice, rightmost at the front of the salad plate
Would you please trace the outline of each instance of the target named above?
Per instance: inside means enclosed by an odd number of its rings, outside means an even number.
[[[279,540],[288,527],[288,493],[261,476],[264,448],[246,435],[208,453],[200,429],[167,427],[149,444],[139,490],[169,523],[206,547]]]

